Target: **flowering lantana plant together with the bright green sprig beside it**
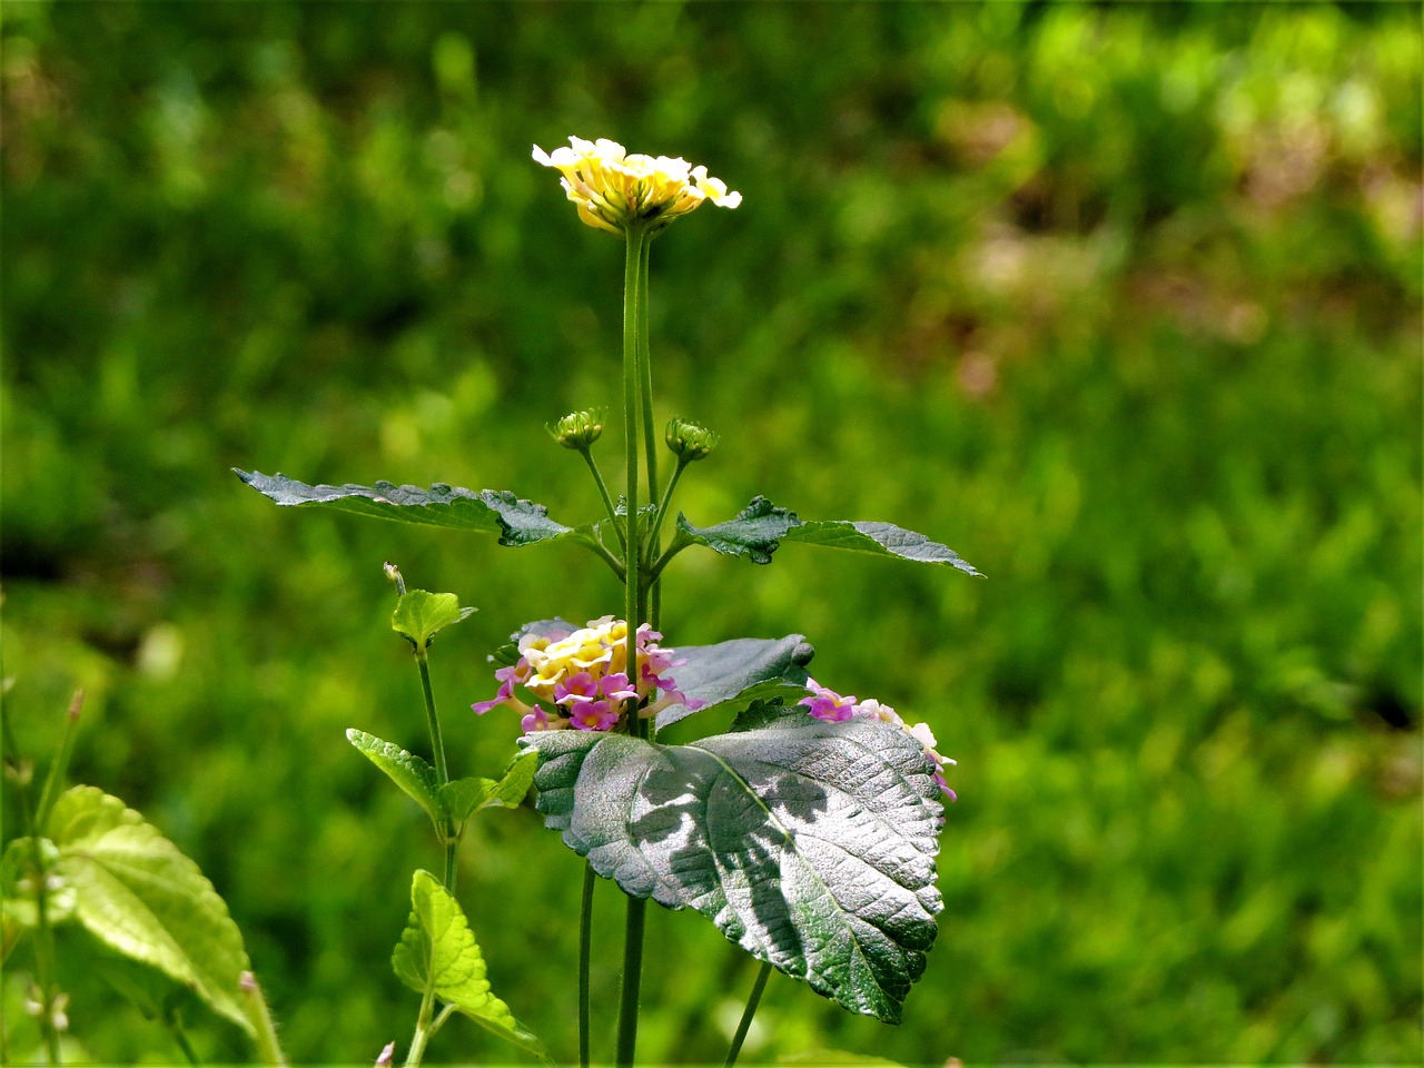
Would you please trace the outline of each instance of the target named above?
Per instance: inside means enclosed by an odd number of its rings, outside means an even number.
[[[535,147],[534,159],[560,172],[584,224],[621,238],[627,249],[621,496],[609,493],[594,459],[608,426],[604,410],[574,412],[548,427],[560,446],[582,457],[604,514],[564,525],[545,507],[503,490],[440,483],[423,490],[386,481],[309,486],[282,474],[238,471],[282,506],[456,527],[493,534],[513,548],[577,545],[602,560],[622,585],[621,614],[584,625],[528,622],[491,655],[493,693],[477,696],[471,708],[476,715],[508,709],[518,716],[518,736],[511,731],[517,755],[500,780],[451,780],[440,745],[424,654],[437,628],[427,624],[456,622],[467,609],[459,609],[450,594],[400,587],[397,619],[416,615],[417,607],[429,617],[419,625],[407,618],[397,629],[422,668],[436,766],[370,735],[350,736],[427,809],[447,850],[443,880],[416,874],[414,911],[396,953],[397,973],[423,995],[406,1064],[419,1064],[426,1041],[453,1011],[543,1052],[488,994],[483,960],[453,896],[463,820],[491,800],[517,803],[530,778],[545,826],[585,859],[578,963],[582,1065],[592,1059],[590,947],[598,877],[614,880],[627,896],[619,1065],[634,1062],[649,899],[701,913],[762,963],[728,1064],[738,1057],[773,968],[852,1012],[896,1024],[936,937],[941,901],[934,862],[943,800],[954,799],[946,778],[954,762],[936,750],[927,725],[907,725],[879,701],[844,696],[812,679],[806,671],[812,646],[803,635],[664,645],[661,578],[693,547],[768,564],[783,544],[978,572],[923,534],[889,523],[803,520],[765,497],[711,525],[696,525],[681,511],[674,517],[684,471],[712,454],[718,436],[682,419],[656,433],[649,246],[703,204],[732,209],[742,197],[705,167],[629,154],[607,140],[575,137],[553,152]],[[671,471],[661,463],[659,446],[671,453]],[[419,605],[410,601],[417,595]],[[437,608],[440,598],[446,600]],[[672,723],[711,711],[731,713],[731,729],[684,745],[658,740]],[[470,960],[478,967],[466,967]],[[444,1004],[439,1015],[436,1000]],[[384,1057],[390,1055],[387,1049]]]

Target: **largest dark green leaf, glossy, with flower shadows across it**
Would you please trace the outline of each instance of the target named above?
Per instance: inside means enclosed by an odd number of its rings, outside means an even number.
[[[682,746],[581,731],[524,743],[540,750],[545,824],[601,876],[900,1021],[940,910],[938,790],[906,732],[785,716]]]

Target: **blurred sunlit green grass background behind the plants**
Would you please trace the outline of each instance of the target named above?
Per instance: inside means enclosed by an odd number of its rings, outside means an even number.
[[[404,1048],[390,947],[439,853],[342,738],[424,748],[380,564],[481,609],[433,651],[466,775],[517,731],[466,712],[486,654],[619,592],[229,468],[595,517],[543,424],[617,407],[622,249],[530,147],[612,137],[746,198],[654,248],[659,419],[723,436],[691,518],[765,493],[990,577],[669,571],[669,642],[805,632],[960,762],[904,1025],[773,977],[748,1059],[1417,1062],[1420,78],[1417,4],[11,0],[6,713],[43,769],[87,691],[74,778],[216,883],[296,1061]],[[461,856],[496,990],[564,1058],[580,876],[531,809]],[[598,914],[607,1055],[608,884]],[[696,916],[649,938],[642,1058],[721,1061],[752,963]],[[83,1049],[172,1061],[66,944]],[[431,1059],[518,1054],[454,1022]]]

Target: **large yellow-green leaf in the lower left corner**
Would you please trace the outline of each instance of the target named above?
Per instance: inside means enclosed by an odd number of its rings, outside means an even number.
[[[239,977],[242,933],[198,866],[118,797],[74,786],[54,805],[56,873],[74,913],[110,948],[158,968],[253,1034]]]

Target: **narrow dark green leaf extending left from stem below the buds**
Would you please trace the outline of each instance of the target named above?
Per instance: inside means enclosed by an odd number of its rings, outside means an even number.
[[[534,545],[553,538],[588,534],[548,517],[548,508],[515,497],[508,490],[464,490],[436,483],[429,490],[379,481],[375,486],[308,486],[285,474],[236,471],[258,493],[282,506],[325,506],[397,523],[453,527],[497,534],[501,545]]]

